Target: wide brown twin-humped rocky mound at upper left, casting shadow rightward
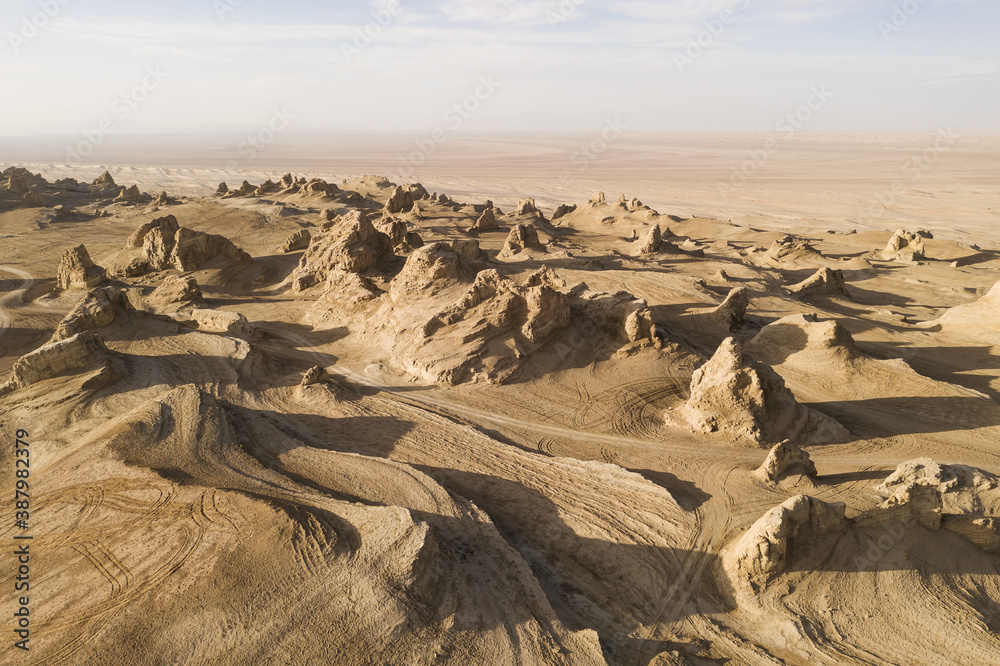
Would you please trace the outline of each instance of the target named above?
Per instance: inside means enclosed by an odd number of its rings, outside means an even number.
[[[135,277],[152,271],[200,270],[216,260],[250,265],[253,258],[225,236],[181,227],[173,215],[139,227],[126,242],[110,272]]]

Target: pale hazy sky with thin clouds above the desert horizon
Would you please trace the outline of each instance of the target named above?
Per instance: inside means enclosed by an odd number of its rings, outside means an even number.
[[[4,0],[0,136],[1000,132],[996,0]]]

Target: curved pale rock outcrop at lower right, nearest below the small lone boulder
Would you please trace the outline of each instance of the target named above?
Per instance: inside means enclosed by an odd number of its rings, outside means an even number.
[[[796,540],[842,530],[847,525],[844,504],[828,504],[797,495],[771,509],[740,539],[727,546],[722,566],[735,585],[749,584],[754,592],[785,571]]]

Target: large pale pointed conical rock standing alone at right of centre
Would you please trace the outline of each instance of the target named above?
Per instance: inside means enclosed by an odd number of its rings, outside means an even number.
[[[754,446],[785,439],[826,444],[849,436],[830,417],[796,402],[781,376],[747,359],[733,338],[723,341],[711,360],[695,371],[691,398],[667,419]]]

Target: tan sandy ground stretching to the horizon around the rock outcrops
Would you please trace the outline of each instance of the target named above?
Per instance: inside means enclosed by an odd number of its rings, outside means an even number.
[[[1000,663],[991,548],[910,514],[855,521],[914,458],[1000,473],[1000,304],[988,296],[1000,140],[961,137],[911,180],[933,136],[793,137],[728,197],[719,182],[764,137],[626,135],[560,182],[587,140],[455,139],[412,180],[460,203],[420,199],[419,214],[383,211],[391,187],[345,183],[392,174],[409,137],[334,137],[236,170],[176,146],[81,167],[9,146],[5,158],[50,182],[89,184],[106,168],[176,199],[153,210],[113,202],[114,188],[38,185],[43,207],[0,202],[0,379],[87,296],[57,286],[78,244],[113,271],[146,256],[127,240],[169,214],[252,262],[213,250],[186,270],[112,276],[131,305],[85,326],[107,355],[60,352],[73,362],[0,397],[4,437],[30,432],[34,536],[32,651],[7,641],[4,663]],[[212,195],[219,181],[285,172],[359,196]],[[896,181],[892,206],[864,217]],[[587,205],[596,191],[607,203]],[[616,205],[620,193],[656,212]],[[544,219],[515,211],[529,197]],[[499,229],[470,236],[486,199]],[[551,220],[562,203],[579,208]],[[304,268],[330,269],[313,248],[359,206],[378,229],[402,220],[447,245],[397,245],[363,279],[297,286]],[[539,245],[512,252],[517,224]],[[642,254],[654,226],[667,244]],[[897,227],[930,232],[923,257],[879,254]],[[303,229],[310,250],[282,252]],[[811,249],[782,246],[785,233]],[[451,249],[469,239],[485,255]],[[530,277],[542,267],[557,277]],[[848,294],[789,292],[824,268]],[[469,300],[483,270],[509,291]],[[203,313],[245,322],[220,329],[153,292],[176,276],[197,281]],[[355,298],[358,284],[375,296]],[[715,309],[741,287],[745,317],[721,325]],[[601,304],[621,292],[644,301],[629,307],[656,332],[605,325]],[[520,307],[529,323],[558,318],[545,298],[569,303],[568,323],[524,333]],[[778,321],[812,313],[853,342]],[[754,346],[781,326],[778,347]],[[695,370],[730,336],[847,428],[805,447],[818,476],[764,482],[754,470],[776,442],[678,422]],[[329,379],[300,386],[313,366]],[[4,496],[14,455],[2,456]],[[989,486],[968,490],[970,515],[997,517]],[[961,513],[956,492],[942,495],[946,521]],[[751,590],[727,553],[796,495],[844,503],[849,522],[772,534],[782,565]],[[20,533],[11,524],[5,543]]]

